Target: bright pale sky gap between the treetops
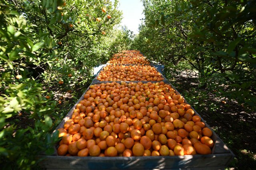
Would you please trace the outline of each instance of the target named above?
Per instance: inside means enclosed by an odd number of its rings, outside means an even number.
[[[144,18],[142,2],[140,0],[119,0],[119,3],[118,9],[123,12],[121,26],[126,25],[128,29],[137,34],[140,19]]]

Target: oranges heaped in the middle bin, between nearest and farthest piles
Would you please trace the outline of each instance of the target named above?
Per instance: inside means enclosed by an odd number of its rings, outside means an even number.
[[[162,81],[162,75],[153,66],[138,65],[107,65],[97,77],[100,81]]]

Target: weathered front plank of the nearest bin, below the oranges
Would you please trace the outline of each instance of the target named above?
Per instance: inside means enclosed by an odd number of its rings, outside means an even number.
[[[224,168],[231,154],[185,156],[77,157],[45,156],[40,166],[53,169],[175,169]]]

